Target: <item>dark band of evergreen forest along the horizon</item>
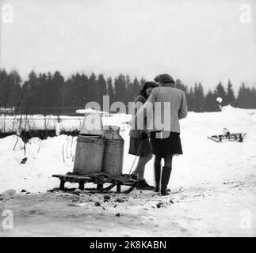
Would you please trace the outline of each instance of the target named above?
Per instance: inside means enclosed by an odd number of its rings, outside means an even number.
[[[122,101],[128,104],[139,94],[146,80],[131,79],[128,75],[105,77],[94,73],[73,74],[64,79],[59,71],[36,74],[32,71],[28,81],[21,82],[16,70],[7,73],[0,70],[0,108],[14,107],[17,113],[27,114],[75,114],[75,109],[84,108],[90,101],[102,104],[102,96],[109,95],[110,103]],[[237,108],[256,108],[256,89],[246,87],[243,83],[235,97],[231,81],[221,82],[214,90],[204,92],[203,85],[196,83],[193,87],[176,80],[178,89],[182,89],[188,101],[189,111],[220,111],[217,97],[223,99],[222,105],[231,104]]]

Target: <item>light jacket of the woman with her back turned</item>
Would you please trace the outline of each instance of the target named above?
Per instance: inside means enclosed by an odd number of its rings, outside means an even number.
[[[156,103],[159,102],[159,103]],[[165,85],[152,89],[151,96],[137,111],[138,128],[143,127],[142,119],[147,115],[147,130],[180,133],[179,119],[188,114],[185,93],[173,85]],[[164,123],[161,124],[161,123]]]

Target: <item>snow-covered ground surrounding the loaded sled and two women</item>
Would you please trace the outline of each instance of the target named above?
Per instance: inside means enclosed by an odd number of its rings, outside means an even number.
[[[128,155],[129,119],[103,119],[104,124],[121,126],[124,173],[134,161]],[[231,133],[246,132],[245,141],[217,143],[207,138],[222,134],[224,127]],[[110,193],[111,201],[103,202],[102,194],[47,193],[59,187],[52,174],[72,171],[76,138],[32,138],[26,154],[17,136],[0,139],[0,193],[16,190],[13,198],[3,194],[0,200],[0,211],[13,210],[14,217],[13,229],[0,228],[0,236],[256,236],[256,110],[189,112],[181,120],[181,142],[184,155],[174,157],[170,196],[132,191],[126,196]],[[21,164],[24,157],[28,160]],[[151,184],[153,163],[145,171]]]

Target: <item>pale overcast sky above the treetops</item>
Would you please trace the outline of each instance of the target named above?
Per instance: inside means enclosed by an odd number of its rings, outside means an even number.
[[[147,80],[168,73],[205,89],[228,78],[235,89],[256,85],[254,0],[0,1],[13,6],[13,23],[2,22],[1,64],[23,79],[33,69]]]

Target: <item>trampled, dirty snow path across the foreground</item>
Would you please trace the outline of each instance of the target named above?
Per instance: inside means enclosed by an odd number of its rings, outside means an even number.
[[[0,236],[256,235],[255,187],[200,192],[188,189],[170,197],[110,193],[109,202],[102,194],[20,194],[2,202],[13,211],[13,229],[0,229]]]

